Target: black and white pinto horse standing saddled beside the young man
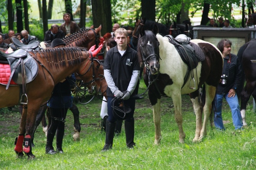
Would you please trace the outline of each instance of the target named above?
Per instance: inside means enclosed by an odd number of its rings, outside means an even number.
[[[206,125],[209,118],[213,118],[214,96],[216,86],[222,74],[223,56],[220,51],[209,42],[203,40],[191,40],[194,45],[198,45],[205,59],[198,62],[195,69],[189,75],[195,75],[194,89],[190,86],[190,81],[184,81],[188,72],[186,65],[180,57],[175,46],[169,42],[167,37],[157,34],[158,28],[152,31],[144,30],[140,27],[138,41],[138,55],[146,65],[144,71],[144,82],[148,87],[149,100],[153,107],[153,117],[155,124],[155,144],[161,140],[160,131],[160,99],[161,96],[171,97],[175,109],[175,120],[179,129],[179,142],[184,143],[185,133],[182,127],[181,95],[189,94],[196,114],[196,132],[194,142],[201,141],[206,136]],[[204,85],[204,86],[203,86]],[[204,87],[203,102],[199,101],[199,88]],[[202,112],[204,120],[202,126]],[[211,117],[210,117],[211,115]]]

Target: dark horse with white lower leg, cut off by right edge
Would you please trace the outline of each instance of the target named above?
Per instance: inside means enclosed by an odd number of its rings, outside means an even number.
[[[241,116],[243,119],[243,125],[246,126],[246,105],[250,99],[250,96],[253,95],[254,100],[256,101],[256,39],[253,39],[245,43],[238,50],[237,56],[241,62],[243,76],[242,82],[240,83],[239,91],[237,92],[238,97],[241,98]],[[246,83],[245,83],[246,81]],[[244,86],[245,83],[245,86]],[[240,92],[241,91],[241,92]]]

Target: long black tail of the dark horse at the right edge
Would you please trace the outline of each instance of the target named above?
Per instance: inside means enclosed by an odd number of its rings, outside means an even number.
[[[238,99],[240,99],[241,97],[241,92],[243,90],[243,87],[245,85],[245,72],[243,70],[243,52],[245,51],[245,49],[247,48],[249,42],[248,43],[245,43],[242,47],[240,47],[240,49],[238,50],[237,52],[237,57],[238,57],[238,60],[240,61],[241,63],[241,69],[242,69],[242,78],[241,78],[241,83],[239,84],[238,86],[238,89],[237,89],[237,97]]]

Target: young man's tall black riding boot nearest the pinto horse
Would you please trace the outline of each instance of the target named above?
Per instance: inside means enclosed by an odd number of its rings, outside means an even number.
[[[131,121],[125,120],[125,136],[126,136],[126,146],[128,148],[133,148],[134,143],[134,119]]]

